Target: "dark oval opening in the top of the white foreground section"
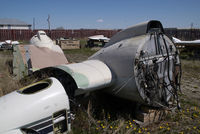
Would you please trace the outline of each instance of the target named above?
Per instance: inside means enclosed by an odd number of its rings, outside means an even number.
[[[50,79],[42,80],[19,89],[17,92],[21,94],[33,94],[42,91],[51,85],[52,81]]]

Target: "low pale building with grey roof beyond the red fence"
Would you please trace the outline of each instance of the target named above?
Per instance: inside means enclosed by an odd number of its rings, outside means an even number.
[[[31,24],[17,19],[0,19],[0,29],[31,29]]]

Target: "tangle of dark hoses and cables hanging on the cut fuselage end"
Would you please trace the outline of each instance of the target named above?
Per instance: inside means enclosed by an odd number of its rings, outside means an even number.
[[[170,53],[167,42],[165,41],[162,33],[151,33],[150,39],[152,38],[152,36],[154,38],[156,56],[149,57],[147,51],[140,52],[140,62],[142,62],[143,64],[138,65],[138,69],[141,70],[140,74],[138,74],[137,76],[141,75],[141,77],[143,78],[141,84],[144,88],[144,93],[148,98],[148,102],[150,104],[157,104],[159,106],[162,106],[163,108],[170,108],[171,105],[169,105],[168,103],[168,96],[171,94],[170,96],[173,97],[172,99],[176,101],[177,108],[180,109],[177,91],[178,86],[180,88],[180,85],[178,85],[178,83],[181,76],[176,75],[177,77],[175,78],[175,81],[172,80],[172,76],[175,72],[173,71],[174,69],[172,69],[171,67],[172,65],[174,65],[173,67],[177,67],[177,65],[180,65],[177,59],[178,55],[176,53],[175,55]],[[163,40],[163,42],[160,42],[161,40]],[[163,43],[164,46],[160,43]],[[164,47],[166,49],[166,52],[163,49]],[[145,58],[144,55],[146,55],[147,57]],[[175,60],[171,59],[171,57],[173,58],[174,56]],[[180,72],[177,72],[177,74],[179,73]],[[160,78],[160,75],[162,78]]]

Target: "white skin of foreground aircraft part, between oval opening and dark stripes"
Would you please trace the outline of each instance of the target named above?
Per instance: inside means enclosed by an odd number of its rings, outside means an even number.
[[[0,98],[0,133],[13,130],[69,109],[68,96],[62,84],[50,78],[52,84],[34,94],[16,91]]]

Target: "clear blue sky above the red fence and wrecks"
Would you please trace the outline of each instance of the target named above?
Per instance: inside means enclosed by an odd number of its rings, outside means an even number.
[[[200,0],[0,0],[0,18],[16,18],[36,28],[126,28],[150,19],[164,27],[200,28]]]

